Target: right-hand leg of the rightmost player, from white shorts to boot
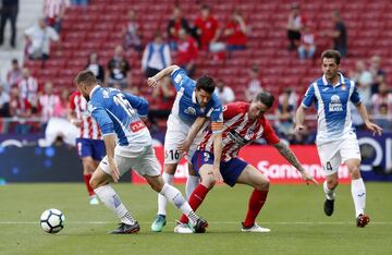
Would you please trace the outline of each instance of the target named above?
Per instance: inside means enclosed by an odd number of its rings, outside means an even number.
[[[355,134],[352,134],[343,142],[341,155],[352,178],[351,192],[354,201],[356,223],[357,227],[365,227],[370,219],[365,215],[366,189],[360,177],[360,150]]]

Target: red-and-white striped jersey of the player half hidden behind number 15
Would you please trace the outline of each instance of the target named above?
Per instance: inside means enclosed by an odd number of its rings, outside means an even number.
[[[81,126],[77,137],[88,139],[101,139],[102,135],[98,123],[87,110],[87,101],[79,92],[71,95],[70,109],[76,113],[77,120],[81,120]]]

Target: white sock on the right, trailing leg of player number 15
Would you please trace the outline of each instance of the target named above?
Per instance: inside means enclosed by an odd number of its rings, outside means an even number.
[[[196,223],[199,218],[191,208],[189,204],[185,201],[181,192],[172,185],[164,183],[162,191],[160,192],[170,203],[172,203],[177,209],[188,217],[192,223]]]

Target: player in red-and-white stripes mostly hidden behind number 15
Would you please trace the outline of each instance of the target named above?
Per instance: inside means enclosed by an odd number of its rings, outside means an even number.
[[[99,199],[89,185],[89,181],[99,161],[105,157],[105,143],[99,125],[88,113],[87,101],[79,92],[71,95],[69,120],[78,127],[76,148],[82,159],[83,179],[89,195],[89,204],[98,205]]]

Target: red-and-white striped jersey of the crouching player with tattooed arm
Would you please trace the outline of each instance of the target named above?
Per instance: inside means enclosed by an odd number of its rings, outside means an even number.
[[[269,121],[262,116],[249,120],[249,104],[236,101],[223,107],[223,133],[221,161],[229,161],[238,155],[240,149],[262,137],[268,144],[279,143]],[[213,153],[213,134],[209,131],[199,145],[200,150]]]

